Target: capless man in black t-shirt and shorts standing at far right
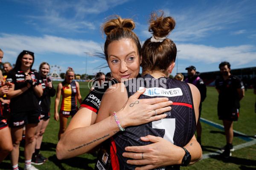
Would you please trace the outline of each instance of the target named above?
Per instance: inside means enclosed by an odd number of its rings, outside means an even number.
[[[241,79],[230,73],[230,63],[221,62],[219,64],[221,77],[216,79],[215,88],[218,96],[218,119],[222,120],[226,135],[227,144],[221,148],[224,150],[222,156],[228,158],[233,151],[233,121],[239,118],[240,100],[244,97],[244,85]]]

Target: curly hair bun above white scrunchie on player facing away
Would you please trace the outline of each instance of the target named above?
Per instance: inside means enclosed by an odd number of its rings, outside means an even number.
[[[175,20],[172,17],[163,17],[163,11],[160,12],[160,17],[155,12],[151,13],[148,21],[148,31],[153,32],[154,37],[166,37],[175,27]]]

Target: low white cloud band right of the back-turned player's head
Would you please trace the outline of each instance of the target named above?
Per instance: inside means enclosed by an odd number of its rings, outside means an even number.
[[[256,47],[254,45],[239,45],[229,47],[211,47],[195,44],[176,44],[180,52],[179,59],[191,62],[204,62],[211,64],[224,60],[233,63],[233,65],[244,65],[250,62],[256,62]]]

